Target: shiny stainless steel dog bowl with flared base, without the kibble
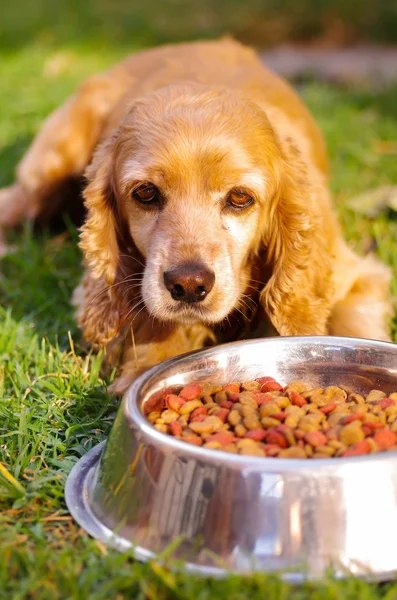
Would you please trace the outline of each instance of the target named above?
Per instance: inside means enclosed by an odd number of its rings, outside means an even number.
[[[157,365],[131,386],[109,441],[83,457],[66,502],[92,536],[149,560],[172,545],[205,575],[397,571],[397,453],[297,460],[203,449],[157,431],[143,408],[163,388],[262,375],[365,393],[397,390],[397,345],[338,337],[236,342]]]

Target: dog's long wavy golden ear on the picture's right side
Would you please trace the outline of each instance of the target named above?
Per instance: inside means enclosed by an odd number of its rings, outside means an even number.
[[[309,181],[313,177],[291,139],[281,148],[279,183],[264,235],[272,274],[260,301],[280,335],[323,335],[331,309],[334,217],[320,176]]]

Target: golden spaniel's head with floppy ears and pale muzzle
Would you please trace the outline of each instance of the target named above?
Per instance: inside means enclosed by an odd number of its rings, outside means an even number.
[[[132,281],[125,258],[137,249],[152,316],[214,324],[239,306],[264,252],[273,274],[261,300],[282,330],[279,304],[294,269],[310,264],[316,221],[289,144],[234,91],[175,85],[134,102],[88,169],[81,245],[91,270],[109,285],[120,273]]]

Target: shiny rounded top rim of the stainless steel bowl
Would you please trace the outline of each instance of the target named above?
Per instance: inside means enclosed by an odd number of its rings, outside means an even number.
[[[389,462],[394,460],[397,455],[396,451],[378,452],[376,454],[365,454],[362,456],[349,456],[345,458],[322,458],[318,460],[309,460],[307,458],[277,458],[268,456],[252,456],[234,454],[231,452],[223,452],[221,449],[202,448],[201,446],[195,446],[187,442],[178,440],[177,438],[167,435],[161,431],[155,429],[155,427],[146,419],[142,414],[138,404],[140,403],[140,397],[142,388],[147,384],[150,379],[156,375],[161,376],[162,373],[166,372],[169,367],[183,362],[187,358],[195,355],[213,355],[221,354],[225,348],[236,347],[239,345],[255,345],[258,343],[292,343],[298,345],[302,342],[312,343],[315,346],[326,346],[326,345],[339,345],[348,346],[354,343],[355,347],[367,347],[372,346],[374,349],[379,350],[392,350],[396,353],[397,363],[397,344],[393,342],[384,342],[381,340],[370,340],[366,338],[355,338],[347,336],[285,336],[285,337],[271,337],[271,338],[255,338],[249,340],[239,340],[235,342],[229,342],[226,344],[219,344],[211,346],[210,348],[194,350],[185,354],[179,354],[173,358],[165,360],[151,369],[145,371],[140,375],[127,389],[123,397],[122,410],[124,418],[129,425],[134,424],[138,429],[145,435],[146,439],[149,440],[156,448],[164,448],[178,452],[181,458],[195,458],[197,460],[206,461],[208,463],[222,462],[228,467],[251,467],[252,470],[266,471],[269,473],[279,473],[285,471],[304,471],[304,470],[318,470],[333,468],[339,469],[341,467],[347,467],[354,464],[368,464],[369,462]],[[397,377],[397,368],[396,368]]]

